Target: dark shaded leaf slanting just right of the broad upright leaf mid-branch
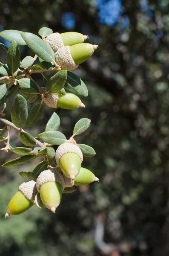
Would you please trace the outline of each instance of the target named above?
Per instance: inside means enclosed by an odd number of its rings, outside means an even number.
[[[43,104],[39,103],[35,105],[32,110],[29,112],[28,119],[26,122],[26,126],[34,125],[43,114]]]

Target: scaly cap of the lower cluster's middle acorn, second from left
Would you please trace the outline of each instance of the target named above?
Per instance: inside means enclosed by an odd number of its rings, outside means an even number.
[[[62,191],[65,188],[64,180],[62,175],[53,169],[48,169],[40,173],[40,175],[37,177],[36,181],[36,187],[37,191],[40,192],[40,186],[42,186],[43,183],[54,181],[59,183],[62,186]]]

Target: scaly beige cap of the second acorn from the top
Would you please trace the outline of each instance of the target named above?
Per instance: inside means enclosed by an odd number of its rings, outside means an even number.
[[[55,60],[56,63],[61,67],[61,70],[72,71],[78,67],[72,58],[70,46],[63,46],[58,49],[58,51],[55,53]]]

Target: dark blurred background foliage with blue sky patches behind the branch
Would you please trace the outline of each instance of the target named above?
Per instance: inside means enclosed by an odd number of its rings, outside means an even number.
[[[89,88],[86,108],[63,111],[60,131],[69,137],[80,118],[92,120],[77,141],[95,148],[83,166],[100,182],[63,195],[56,214],[32,207],[4,219],[23,182],[18,172],[32,171],[40,159],[0,168],[0,256],[168,256],[169,1],[0,1],[0,30],[37,34],[43,26],[81,32],[99,44],[74,71]],[[20,51],[22,58],[33,56],[28,47]],[[0,55],[6,63],[3,48]],[[39,74],[33,78],[42,86]],[[44,131],[53,111],[46,106],[26,131]],[[22,146],[13,129],[12,141]],[[15,157],[0,151],[0,164]]]

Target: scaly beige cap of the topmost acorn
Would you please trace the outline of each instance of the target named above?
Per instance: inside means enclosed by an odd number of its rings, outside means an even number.
[[[57,52],[57,50],[60,47],[63,47],[63,40],[60,36],[60,33],[52,33],[49,36],[45,38],[45,43],[49,44],[50,47],[54,50],[54,52]]]

